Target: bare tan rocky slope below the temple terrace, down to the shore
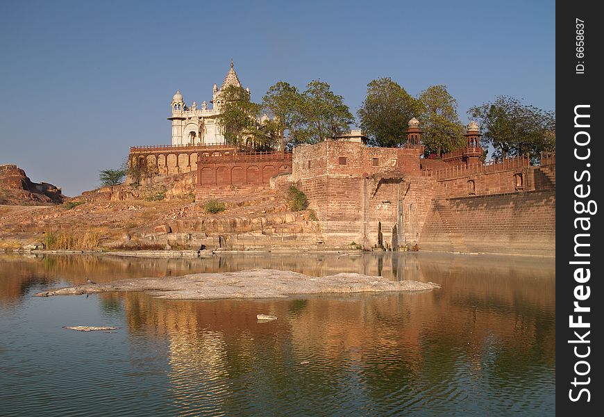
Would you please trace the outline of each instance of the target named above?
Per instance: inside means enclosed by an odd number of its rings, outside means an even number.
[[[279,190],[193,193],[181,175],[145,186],[88,191],[60,206],[0,206],[0,250],[32,246],[103,250],[317,249],[311,211],[291,211]],[[216,210],[208,209],[213,202]]]

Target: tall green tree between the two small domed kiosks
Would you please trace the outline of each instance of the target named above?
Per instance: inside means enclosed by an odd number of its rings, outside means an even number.
[[[458,102],[446,85],[431,85],[418,97],[421,104],[419,122],[423,128],[421,142],[426,155],[442,156],[464,146],[464,128],[458,116]]]

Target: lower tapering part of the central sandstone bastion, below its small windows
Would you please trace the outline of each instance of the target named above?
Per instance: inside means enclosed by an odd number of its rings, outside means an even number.
[[[392,177],[319,176],[294,183],[308,197],[319,220],[325,243],[366,248],[378,243],[381,223],[383,243],[414,245],[426,221],[433,198],[434,180]],[[397,237],[393,242],[393,227]]]

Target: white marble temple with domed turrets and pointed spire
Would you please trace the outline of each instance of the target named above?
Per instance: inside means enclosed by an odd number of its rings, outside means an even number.
[[[183,100],[180,90],[172,97],[171,117],[172,121],[172,145],[214,145],[223,144],[224,136],[220,131],[216,117],[220,114],[222,104],[221,92],[230,85],[241,87],[239,77],[233,68],[233,61],[230,61],[230,70],[224,78],[220,90],[214,84],[212,88],[211,106],[205,101],[198,106],[193,101],[191,106],[187,106]],[[246,88],[249,92],[249,88]]]

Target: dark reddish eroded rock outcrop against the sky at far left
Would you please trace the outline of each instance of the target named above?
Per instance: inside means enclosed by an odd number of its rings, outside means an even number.
[[[0,204],[38,206],[62,204],[67,197],[49,183],[35,183],[17,165],[0,165]]]

